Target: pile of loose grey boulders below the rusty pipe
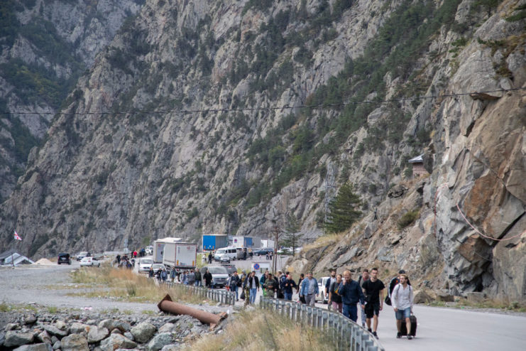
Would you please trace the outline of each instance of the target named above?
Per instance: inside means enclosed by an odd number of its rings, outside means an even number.
[[[0,332],[0,349],[16,351],[178,350],[209,325],[189,315],[137,313],[9,313]],[[214,333],[221,333],[221,325]]]

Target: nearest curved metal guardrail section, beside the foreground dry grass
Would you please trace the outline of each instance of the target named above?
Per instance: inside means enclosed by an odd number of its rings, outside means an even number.
[[[326,332],[336,340],[336,347],[339,350],[385,351],[371,333],[341,313],[263,296],[259,299],[259,306],[276,311],[294,322],[310,325],[312,328]]]

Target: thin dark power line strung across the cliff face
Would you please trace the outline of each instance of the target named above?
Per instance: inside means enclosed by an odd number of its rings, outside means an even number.
[[[461,97],[466,95],[481,95],[481,94],[493,94],[495,92],[512,92],[517,90],[526,90],[526,87],[510,88],[510,89],[500,89],[500,90],[491,90],[485,92],[459,92],[443,95],[424,95],[417,97],[400,97],[397,99],[374,99],[369,101],[359,101],[359,102],[339,102],[336,104],[311,104],[311,105],[298,105],[298,106],[270,106],[270,107],[242,107],[239,109],[175,109],[175,110],[160,110],[160,111],[118,111],[118,112],[0,112],[0,114],[60,114],[60,115],[89,115],[89,114],[192,114],[192,113],[202,113],[202,112],[254,112],[254,111],[277,111],[280,109],[325,109],[332,107],[343,107],[347,105],[358,105],[358,104],[385,104],[388,102],[404,102],[412,100],[423,100],[423,99],[442,99],[445,97]]]

